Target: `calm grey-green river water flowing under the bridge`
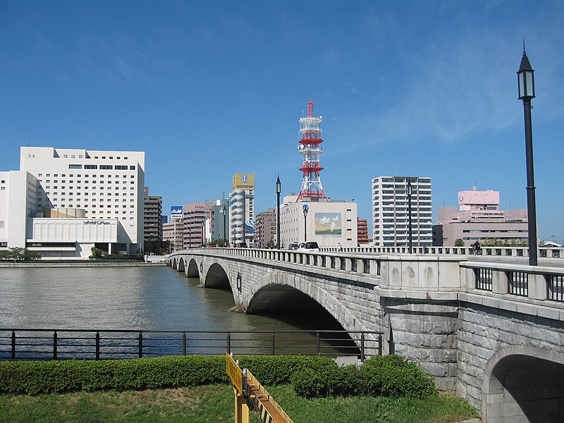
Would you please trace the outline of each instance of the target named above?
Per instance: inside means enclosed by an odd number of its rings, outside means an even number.
[[[0,329],[283,331],[342,329],[326,312],[231,312],[230,290],[165,266],[0,269]],[[4,331],[9,336],[9,331]],[[314,335],[305,336],[311,341]],[[9,343],[5,338],[3,343]],[[307,341],[309,344],[309,341]],[[314,343],[314,341],[312,341]],[[332,353],[335,343],[324,343]],[[6,346],[7,348],[7,346]]]

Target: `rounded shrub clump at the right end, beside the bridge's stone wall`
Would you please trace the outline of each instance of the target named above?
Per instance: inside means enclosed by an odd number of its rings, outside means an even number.
[[[305,370],[292,377],[292,386],[300,396],[408,396],[435,395],[434,379],[417,364],[399,355],[376,356],[361,367],[326,367]]]

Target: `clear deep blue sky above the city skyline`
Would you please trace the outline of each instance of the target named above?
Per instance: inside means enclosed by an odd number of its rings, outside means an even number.
[[[517,76],[535,69],[541,239],[564,240],[562,1],[0,0],[0,170],[19,147],[146,152],[171,205],[255,173],[298,192],[298,119],[324,116],[321,181],[372,219],[371,179],[429,176],[433,210],[459,190],[526,208]]]

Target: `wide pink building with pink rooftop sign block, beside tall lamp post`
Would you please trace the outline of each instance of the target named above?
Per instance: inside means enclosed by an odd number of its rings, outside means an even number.
[[[498,191],[458,192],[458,206],[439,208],[439,221],[433,225],[433,245],[454,245],[461,239],[466,247],[487,238],[511,243],[529,236],[527,209],[500,210]]]

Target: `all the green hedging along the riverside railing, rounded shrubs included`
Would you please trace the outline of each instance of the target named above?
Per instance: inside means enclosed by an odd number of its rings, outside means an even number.
[[[266,386],[288,384],[306,397],[410,396],[436,393],[433,378],[398,355],[372,357],[360,367],[337,367],[328,357],[242,355]],[[228,382],[224,356],[0,362],[0,393],[37,395],[70,391],[140,390]]]

